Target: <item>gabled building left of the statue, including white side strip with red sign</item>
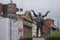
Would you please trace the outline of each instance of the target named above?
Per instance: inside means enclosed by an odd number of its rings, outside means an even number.
[[[26,11],[24,15],[20,15],[20,20],[22,23],[22,27],[20,26],[20,35],[22,37],[29,37],[32,36],[32,16],[30,11]],[[20,30],[19,29],[19,30]],[[23,29],[23,30],[22,30]]]

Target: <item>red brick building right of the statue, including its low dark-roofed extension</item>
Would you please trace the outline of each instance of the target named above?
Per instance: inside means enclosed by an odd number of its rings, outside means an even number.
[[[44,26],[43,26],[44,36],[47,36],[47,35],[51,34],[51,32],[54,32],[56,30],[57,30],[57,28],[54,25],[53,19],[45,19],[44,20]]]

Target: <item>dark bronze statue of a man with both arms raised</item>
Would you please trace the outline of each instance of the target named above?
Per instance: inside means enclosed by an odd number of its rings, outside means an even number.
[[[40,29],[40,33],[41,33],[41,36],[43,36],[43,19],[44,17],[47,16],[47,14],[50,12],[50,11],[47,11],[45,15],[41,15],[41,13],[39,12],[38,15],[36,15],[35,11],[34,10],[31,10],[34,14],[35,17],[37,17],[37,21],[36,21],[36,25],[37,25],[37,31],[36,31],[36,36],[38,37],[38,32],[39,32],[39,29]]]

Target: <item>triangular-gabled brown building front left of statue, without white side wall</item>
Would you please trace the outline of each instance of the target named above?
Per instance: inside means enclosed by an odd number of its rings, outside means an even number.
[[[23,26],[24,26],[24,36],[32,36],[32,16],[31,13],[29,11],[26,11],[25,13],[26,17],[23,21]]]

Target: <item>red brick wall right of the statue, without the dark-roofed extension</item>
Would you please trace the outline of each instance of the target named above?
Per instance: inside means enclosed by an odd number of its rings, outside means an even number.
[[[44,20],[44,26],[43,26],[43,32],[44,35],[49,35],[51,33],[51,27],[50,25],[53,24],[54,25],[54,20],[52,19],[45,19]]]

